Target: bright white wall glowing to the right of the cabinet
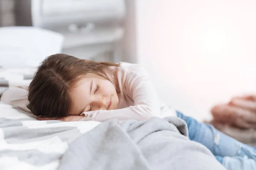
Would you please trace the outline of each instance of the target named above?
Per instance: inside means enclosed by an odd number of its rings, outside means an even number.
[[[137,0],[137,56],[160,98],[198,120],[256,91],[255,0]]]

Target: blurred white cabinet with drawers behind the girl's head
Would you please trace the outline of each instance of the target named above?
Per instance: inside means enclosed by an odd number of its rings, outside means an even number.
[[[125,0],[19,0],[19,4],[26,8],[16,10],[20,16],[17,23],[27,24],[30,19],[32,26],[63,34],[63,53],[84,59],[120,60]]]

